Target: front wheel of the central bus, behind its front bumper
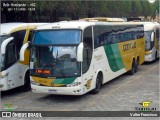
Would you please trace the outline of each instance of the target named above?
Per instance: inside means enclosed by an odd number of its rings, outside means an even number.
[[[99,93],[101,86],[102,86],[102,75],[98,74],[98,76],[96,78],[96,87],[95,87],[95,89],[92,90],[92,94]]]

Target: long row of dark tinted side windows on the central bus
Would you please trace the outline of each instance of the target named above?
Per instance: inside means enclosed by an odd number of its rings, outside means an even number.
[[[118,25],[118,26],[94,26],[95,48],[107,45],[143,38],[143,26]]]

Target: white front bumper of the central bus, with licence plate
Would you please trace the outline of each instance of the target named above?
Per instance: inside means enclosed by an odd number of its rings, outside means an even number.
[[[81,85],[74,87],[46,87],[31,84],[32,92],[55,95],[82,95]]]

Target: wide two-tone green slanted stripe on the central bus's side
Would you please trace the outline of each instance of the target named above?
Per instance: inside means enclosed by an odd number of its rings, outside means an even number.
[[[124,67],[118,44],[104,46],[109,66],[113,72],[116,72]]]

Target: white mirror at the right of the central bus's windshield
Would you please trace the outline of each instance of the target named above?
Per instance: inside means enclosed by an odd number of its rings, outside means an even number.
[[[81,42],[77,48],[77,61],[78,62],[83,61],[83,48],[84,48],[84,45],[83,45],[83,42]]]

